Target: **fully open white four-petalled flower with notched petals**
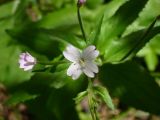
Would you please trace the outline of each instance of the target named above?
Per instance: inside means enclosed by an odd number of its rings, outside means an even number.
[[[67,46],[63,52],[66,59],[72,62],[67,70],[67,75],[72,79],[78,79],[83,72],[88,77],[93,78],[98,73],[98,67],[94,63],[95,58],[99,55],[99,51],[93,45],[88,46],[82,52],[72,45]]]

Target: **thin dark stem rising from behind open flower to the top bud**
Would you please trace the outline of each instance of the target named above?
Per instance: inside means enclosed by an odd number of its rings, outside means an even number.
[[[79,21],[79,25],[80,25],[80,28],[81,28],[81,31],[82,31],[83,38],[84,38],[85,42],[87,43],[86,35],[85,35],[84,29],[83,29],[83,23],[82,23],[82,19],[81,19],[80,6],[79,5],[77,5],[77,15],[78,15],[78,21]]]

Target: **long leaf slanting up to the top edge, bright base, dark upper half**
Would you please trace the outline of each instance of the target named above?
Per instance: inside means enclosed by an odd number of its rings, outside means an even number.
[[[101,51],[101,54],[110,46],[110,42],[121,36],[126,27],[138,17],[139,12],[147,1],[129,0],[117,10],[114,16],[102,25],[101,37],[98,42],[98,49]]]

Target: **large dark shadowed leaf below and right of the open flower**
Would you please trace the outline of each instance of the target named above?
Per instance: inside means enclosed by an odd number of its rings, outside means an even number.
[[[142,66],[133,61],[105,64],[99,73],[110,94],[124,105],[159,114],[160,87]]]

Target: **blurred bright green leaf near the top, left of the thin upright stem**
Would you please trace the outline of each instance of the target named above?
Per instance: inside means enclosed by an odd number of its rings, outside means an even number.
[[[54,11],[43,17],[41,21],[37,23],[40,28],[68,30],[68,27],[77,26],[78,20],[76,16],[76,7],[63,8],[59,11]]]

